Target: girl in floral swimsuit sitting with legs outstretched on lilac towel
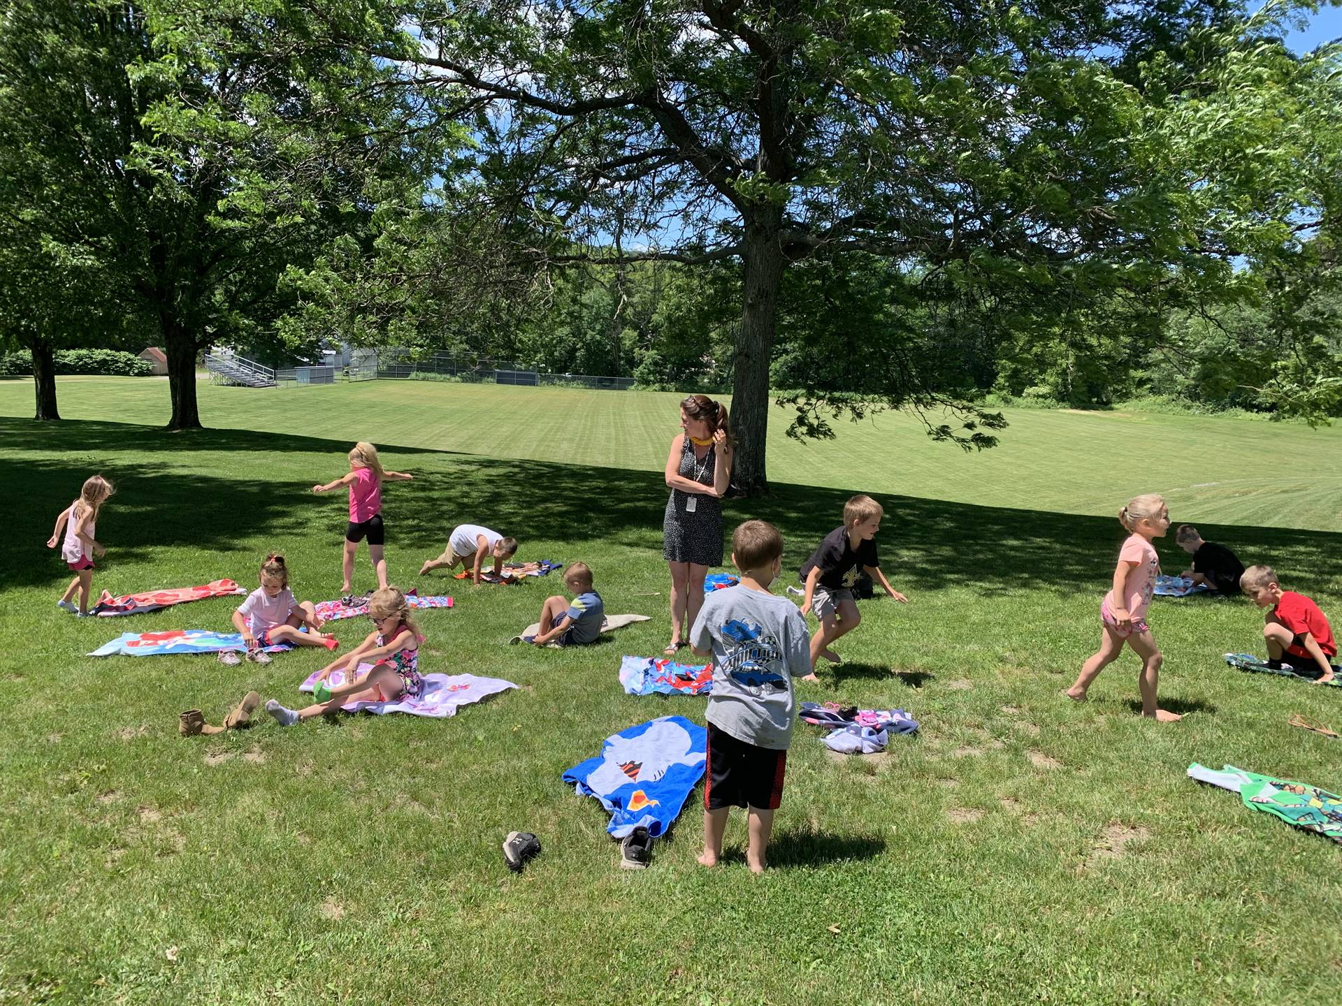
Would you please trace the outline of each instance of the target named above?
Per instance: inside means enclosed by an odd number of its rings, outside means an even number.
[[[368,617],[376,626],[373,632],[317,676],[317,703],[302,710],[285,708],[274,699],[266,703],[266,711],[282,727],[337,712],[348,703],[417,699],[424,693],[424,677],[419,672],[419,644],[424,636],[409,618],[405,594],[395,586],[377,590],[368,601]],[[348,676],[360,664],[372,667],[336,688],[326,684],[333,671],[344,671]]]

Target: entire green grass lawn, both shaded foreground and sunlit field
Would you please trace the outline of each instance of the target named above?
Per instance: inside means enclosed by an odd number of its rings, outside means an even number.
[[[32,423],[28,381],[0,381],[0,1002],[1318,1002],[1342,979],[1342,849],[1184,775],[1190,762],[1342,789],[1342,689],[1228,669],[1255,649],[1245,601],[1157,600],[1174,726],[1135,715],[1125,655],[1078,707],[1059,697],[1099,637],[1096,609],[1129,496],[1274,563],[1342,622],[1335,429],[1162,414],[1013,412],[981,455],[902,416],[829,443],[770,433],[768,500],[794,570],[856,491],[886,506],[878,543],[911,604],[863,604],[847,663],[801,697],[903,707],[923,728],[840,761],[798,727],[772,869],[694,858],[691,797],[643,873],[616,868],[607,816],[560,774],[652,716],[623,653],[660,651],[667,577],[660,468],[678,396],[378,381],[201,385],[211,429],[168,433],[158,380],[62,380],[67,421]],[[295,594],[340,586],[344,494],[315,482],[372,440],[415,475],[385,491],[393,582],[447,589],[420,624],[425,671],[519,685],[448,720],[268,722],[180,739],[248,688],[298,700],[322,656],[270,667],[81,655],[126,630],[219,628],[227,600],[123,620],[54,606],[44,547],[87,475],[118,495],[99,522],[114,593],[216,577],[251,585],[282,549]],[[417,578],[447,531],[483,522],[522,558],[584,559],[609,612],[651,622],[581,651],[506,647],[557,578],[521,588]],[[1173,534],[1166,571],[1184,567]],[[790,582],[790,575],[788,577]],[[361,553],[358,579],[370,583]],[[658,596],[648,594],[659,592]],[[366,622],[336,622],[342,642]],[[545,846],[503,868],[513,829]]]

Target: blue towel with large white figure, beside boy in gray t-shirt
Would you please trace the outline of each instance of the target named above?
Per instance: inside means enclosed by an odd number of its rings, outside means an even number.
[[[605,829],[623,838],[635,828],[656,837],[680,813],[709,755],[707,731],[684,716],[662,716],[605,739],[601,754],[564,773],[580,797],[611,812]]]

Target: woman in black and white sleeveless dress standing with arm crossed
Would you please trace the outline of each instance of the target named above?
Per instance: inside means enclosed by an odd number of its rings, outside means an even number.
[[[667,455],[667,499],[662,555],[671,567],[671,642],[674,656],[688,641],[703,605],[703,578],[722,565],[722,496],[731,483],[727,409],[706,394],[680,402],[682,433]]]

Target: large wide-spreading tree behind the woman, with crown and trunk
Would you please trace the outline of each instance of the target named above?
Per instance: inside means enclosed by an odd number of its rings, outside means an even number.
[[[1165,130],[1216,89],[1208,70],[1280,51],[1275,24],[1243,13],[1237,0],[408,0],[415,48],[380,54],[476,114],[472,184],[525,224],[521,251],[539,263],[741,262],[735,480],[761,491],[778,296],[797,263],[883,256],[937,299],[1044,318],[1240,254],[1228,217],[1189,199]],[[825,404],[812,392],[804,417]],[[956,405],[899,368],[875,400]],[[1000,420],[961,405],[961,425],[934,435],[993,443],[984,427]]]

